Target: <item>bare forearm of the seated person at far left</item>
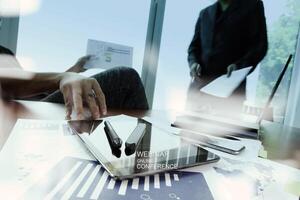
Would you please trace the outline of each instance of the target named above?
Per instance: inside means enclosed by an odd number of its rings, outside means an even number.
[[[65,73],[36,73],[31,79],[0,78],[4,97],[24,98],[59,89]]]

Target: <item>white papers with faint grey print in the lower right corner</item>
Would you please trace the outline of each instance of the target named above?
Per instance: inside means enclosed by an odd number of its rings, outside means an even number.
[[[251,161],[222,158],[213,169],[219,176],[214,187],[222,189],[226,185],[230,199],[299,199],[284,189],[289,180],[299,180],[299,170],[260,158]]]

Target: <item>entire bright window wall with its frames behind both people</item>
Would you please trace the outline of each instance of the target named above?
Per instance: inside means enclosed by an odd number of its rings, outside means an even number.
[[[187,47],[200,10],[214,0],[30,1],[31,14],[3,19],[0,31],[7,36],[1,37],[1,43],[16,48],[26,69],[64,71],[85,55],[89,38],[129,45],[134,47],[133,66],[142,76],[152,108],[184,108],[190,82]],[[247,103],[258,107],[264,104],[292,53],[296,57],[273,106],[276,121],[300,127],[300,54],[296,53],[300,51],[300,2],[263,2],[269,51],[249,77]]]

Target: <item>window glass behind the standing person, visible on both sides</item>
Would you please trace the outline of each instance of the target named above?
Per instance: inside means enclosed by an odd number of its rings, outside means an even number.
[[[190,83],[187,49],[201,9],[215,1],[167,1],[153,108],[183,110]],[[265,59],[247,80],[247,101],[263,107],[289,54],[295,53],[300,21],[300,3],[264,0],[269,50]],[[282,121],[291,75],[289,71],[273,101],[275,118]]]

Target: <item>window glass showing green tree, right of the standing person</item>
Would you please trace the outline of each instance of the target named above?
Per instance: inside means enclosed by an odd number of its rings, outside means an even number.
[[[264,105],[289,54],[294,54],[299,31],[300,2],[297,0],[265,0],[269,50],[261,63],[257,84],[256,105]],[[275,10],[276,9],[276,10]],[[272,102],[274,120],[283,122],[290,87],[293,62]]]

